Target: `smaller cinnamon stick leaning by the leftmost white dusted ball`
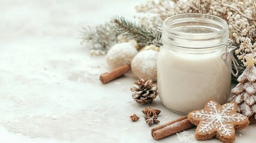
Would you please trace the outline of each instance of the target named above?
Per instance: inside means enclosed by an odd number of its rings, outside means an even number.
[[[121,67],[116,68],[115,70],[109,71],[107,73],[103,73],[100,75],[100,81],[105,84],[108,83],[122,75],[124,75],[125,73],[127,73],[129,70],[131,69],[131,67],[129,65],[124,65]]]

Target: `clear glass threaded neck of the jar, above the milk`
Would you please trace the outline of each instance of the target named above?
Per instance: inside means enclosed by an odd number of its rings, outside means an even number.
[[[180,14],[162,25],[162,43],[175,51],[214,52],[225,48],[229,29],[225,20],[207,14]]]

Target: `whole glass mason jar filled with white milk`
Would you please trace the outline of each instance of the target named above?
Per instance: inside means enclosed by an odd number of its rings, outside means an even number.
[[[162,24],[163,48],[157,59],[159,97],[181,114],[204,107],[208,100],[224,104],[230,95],[232,60],[221,58],[229,38],[225,20],[206,14],[181,14]]]

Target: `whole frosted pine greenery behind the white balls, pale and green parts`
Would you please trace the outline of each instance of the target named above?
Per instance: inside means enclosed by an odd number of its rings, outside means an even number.
[[[82,31],[82,43],[90,43],[92,55],[103,55],[118,43],[118,35],[137,41],[140,47],[152,44],[156,38],[156,32],[143,25],[135,24],[124,17],[114,17],[110,23],[87,27]]]

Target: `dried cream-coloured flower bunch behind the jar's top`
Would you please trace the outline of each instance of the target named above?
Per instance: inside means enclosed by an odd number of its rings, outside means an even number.
[[[142,21],[147,25],[161,25],[165,18],[184,13],[217,15],[227,20],[232,44],[237,46],[235,54],[241,62],[248,53],[255,54],[256,47],[256,1],[252,0],[152,0],[136,9],[140,13],[153,15],[149,20],[145,15]],[[154,21],[158,19],[157,21]],[[145,22],[144,21],[144,22]],[[256,54],[255,54],[256,55]]]

